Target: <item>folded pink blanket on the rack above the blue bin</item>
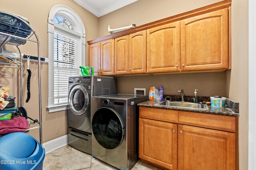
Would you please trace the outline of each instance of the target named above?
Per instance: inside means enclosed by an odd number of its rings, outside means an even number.
[[[25,117],[13,117],[10,120],[0,121],[0,136],[13,132],[25,132],[26,129],[29,129],[29,124]]]

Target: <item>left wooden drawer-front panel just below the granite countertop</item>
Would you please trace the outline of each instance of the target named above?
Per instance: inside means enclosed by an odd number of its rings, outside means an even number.
[[[140,117],[165,121],[170,123],[178,123],[178,111],[167,109],[156,109],[150,107],[140,107]]]

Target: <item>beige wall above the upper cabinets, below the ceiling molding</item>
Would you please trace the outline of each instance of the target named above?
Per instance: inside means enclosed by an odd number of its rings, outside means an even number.
[[[194,10],[221,0],[138,0],[128,6],[99,18],[98,36],[110,34],[110,28],[120,28],[136,23],[137,26]]]

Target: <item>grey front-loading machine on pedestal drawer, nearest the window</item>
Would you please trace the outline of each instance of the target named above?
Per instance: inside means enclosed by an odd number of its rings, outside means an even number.
[[[116,79],[107,76],[78,76],[68,79],[68,144],[92,154],[91,97],[115,94]]]

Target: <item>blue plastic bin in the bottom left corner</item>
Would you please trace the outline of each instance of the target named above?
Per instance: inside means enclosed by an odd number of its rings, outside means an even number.
[[[0,137],[0,170],[42,170],[45,150],[22,132]]]

